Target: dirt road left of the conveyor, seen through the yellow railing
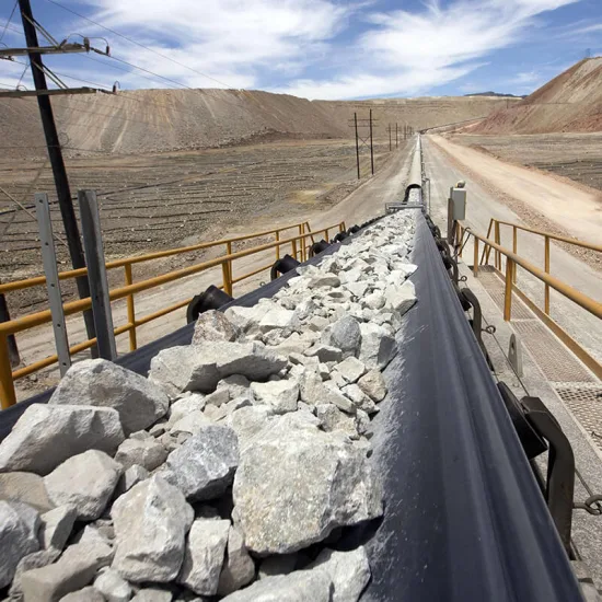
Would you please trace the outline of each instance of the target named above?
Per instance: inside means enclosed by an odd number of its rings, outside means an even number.
[[[413,146],[408,146],[407,148],[413,148]],[[338,205],[326,211],[320,212],[314,209],[311,213],[309,212],[305,217],[310,221],[312,230],[315,231],[340,221],[345,221],[347,227],[350,227],[382,213],[385,202],[398,199],[405,192],[408,157],[409,154],[406,149],[400,149],[391,157],[382,171],[378,172],[372,178],[362,184]],[[281,217],[270,224],[262,223],[262,230],[267,230],[270,227],[289,224],[291,221],[297,220],[297,216],[294,220],[291,217]],[[256,230],[257,228],[247,228],[248,232]],[[240,234],[240,228],[234,233]],[[335,232],[332,232],[331,236],[334,235],[334,233]],[[285,253],[290,253],[290,247],[282,248],[281,254]],[[253,271],[257,266],[269,265],[274,263],[274,250],[244,257],[234,263],[233,277],[236,278],[238,276]],[[244,292],[257,288],[268,278],[269,274],[264,271],[235,285],[234,296],[241,296]],[[151,314],[162,308],[198,294],[209,285],[216,283],[221,283],[221,267],[141,293],[136,297],[136,315],[139,319]],[[161,320],[141,326],[138,328],[138,346],[150,343],[183,326],[185,324],[185,309],[182,309]],[[125,301],[117,301],[113,304],[113,321],[115,327],[127,323],[127,308]],[[67,329],[71,345],[85,339],[85,331],[80,316],[67,319]],[[39,327],[22,333],[19,335],[18,341],[22,360],[26,364],[43,359],[54,352],[54,340],[51,331],[48,327]],[[117,337],[117,348],[119,352],[128,351],[127,334]],[[85,357],[85,355],[82,355],[82,357]],[[47,370],[39,373],[33,381],[28,379],[18,381],[16,389],[19,398],[24,400],[37,391],[56,384],[57,378],[58,373],[55,370]]]

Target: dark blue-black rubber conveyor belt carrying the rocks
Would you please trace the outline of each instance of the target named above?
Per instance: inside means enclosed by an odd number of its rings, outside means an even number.
[[[383,475],[386,510],[367,544],[372,581],[362,600],[580,601],[539,486],[421,215],[414,262],[419,301],[404,317],[401,354],[385,372],[390,396],[373,422],[372,458]],[[252,305],[271,297],[294,275],[233,303]],[[193,329],[184,326],[117,363],[146,374],[159,350],[189,344]],[[46,402],[49,394],[0,413],[0,439],[26,406]]]

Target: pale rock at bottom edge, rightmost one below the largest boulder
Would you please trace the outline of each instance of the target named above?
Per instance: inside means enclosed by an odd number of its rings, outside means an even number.
[[[363,546],[351,552],[323,549],[308,568],[328,575],[335,586],[333,602],[357,602],[370,581],[370,565]]]

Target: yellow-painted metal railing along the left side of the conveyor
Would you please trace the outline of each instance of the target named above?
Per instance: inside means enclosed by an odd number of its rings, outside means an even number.
[[[157,276],[153,278],[149,278],[147,280],[141,280],[140,282],[134,283],[132,281],[132,274],[131,274],[131,266],[136,263],[140,263],[140,261],[150,261],[153,258],[162,258],[164,256],[170,256],[174,253],[173,251],[169,252],[161,252],[161,253],[153,253],[149,254],[147,256],[140,256],[140,257],[128,257],[125,259],[119,259],[118,262],[113,262],[111,267],[124,267],[125,269],[125,282],[126,285],[120,288],[116,288],[109,291],[109,299],[111,301],[115,301],[118,299],[126,299],[127,300],[127,310],[128,310],[128,323],[119,326],[118,328],[115,328],[115,335],[120,335],[126,332],[130,335],[130,348],[136,348],[137,346],[137,339],[136,339],[136,327],[147,324],[148,322],[151,322],[152,320],[157,320],[163,315],[166,315],[167,313],[171,313],[173,311],[176,311],[183,306],[186,306],[190,299],[187,299],[185,301],[181,301],[176,304],[170,305],[169,308],[163,308],[162,310],[159,310],[154,312],[153,314],[149,314],[147,316],[143,316],[141,319],[136,319],[135,313],[135,305],[134,305],[134,296],[138,292],[142,292],[144,290],[149,290],[162,285],[165,285],[167,282],[172,282],[174,280],[178,280],[181,278],[185,278],[187,276],[192,276],[194,274],[197,274],[199,271],[208,270],[213,267],[218,267],[221,265],[222,267],[222,278],[223,278],[223,285],[220,288],[223,288],[225,292],[229,294],[232,294],[232,285],[234,282],[239,282],[241,280],[244,280],[245,278],[250,278],[251,276],[254,276],[265,269],[269,269],[271,266],[271,263],[262,266],[259,269],[255,269],[248,274],[245,274],[244,276],[241,276],[236,279],[232,278],[232,263],[235,259],[240,259],[242,257],[246,257],[256,253],[261,253],[264,251],[268,251],[274,248],[276,253],[279,253],[280,246],[286,244],[291,244],[293,247],[293,254],[294,256],[298,256],[297,252],[297,243],[299,241],[305,241],[306,238],[311,236],[313,240],[313,234],[320,234],[322,232],[327,232],[329,229],[335,228],[336,225],[331,225],[327,229],[320,230],[317,232],[312,233],[311,229],[308,224],[308,232],[305,232],[305,227],[303,225],[302,234],[297,236],[291,236],[288,239],[281,240],[279,236],[279,233],[289,230],[291,227],[287,228],[280,228],[277,231],[271,230],[267,233],[276,233],[276,241],[271,243],[266,243],[262,245],[257,245],[247,250],[243,250],[236,253],[232,253],[232,242],[235,241],[243,241],[243,240],[250,240],[254,239],[261,235],[265,235],[266,232],[262,232],[259,234],[252,234],[250,236],[236,236],[233,239],[228,240],[221,240],[213,243],[204,243],[202,245],[194,245],[193,247],[184,247],[181,250],[181,253],[187,253],[192,250],[198,250],[198,248],[207,248],[211,246],[216,246],[218,244],[225,244],[227,245],[227,255],[221,257],[216,257],[213,259],[202,262],[197,265],[188,266],[186,268],[181,268],[167,274],[163,274],[161,276]],[[339,228],[343,230],[344,224],[338,224]],[[302,243],[303,244],[303,243]],[[306,248],[306,245],[305,245]],[[301,252],[303,251],[303,247],[301,248]],[[278,256],[278,255],[277,255]],[[107,264],[108,267],[108,264]],[[68,277],[77,277],[84,275],[85,270],[70,270],[69,273],[62,273],[62,279],[66,279]],[[34,281],[34,285],[31,283],[31,280]],[[44,285],[45,279],[44,278],[33,278],[31,280],[25,280],[21,282],[11,282],[9,286],[12,286],[10,290],[20,290],[23,288],[30,288],[31,286],[39,286]],[[71,301],[69,303],[63,304],[63,312],[65,315],[73,315],[76,313],[80,313],[83,311],[86,311],[91,308],[91,300],[88,299],[79,299],[77,301]],[[57,356],[50,356],[48,358],[45,358],[43,360],[39,360],[37,362],[34,362],[30,366],[26,366],[24,368],[21,368],[19,370],[15,370],[14,372],[11,371],[10,361],[8,358],[8,336],[10,334],[16,334],[20,332],[27,331],[30,328],[40,326],[43,324],[47,324],[51,322],[51,315],[49,310],[44,310],[42,312],[37,312],[34,314],[28,314],[15,320],[12,320],[10,322],[3,322],[0,324],[0,404],[2,407],[8,407],[10,405],[13,405],[16,401],[16,395],[14,392],[14,380],[19,378],[23,378],[25,375],[32,374],[34,372],[37,372],[38,370],[42,370],[43,368],[47,368],[51,366],[53,363],[56,363],[58,361]],[[132,336],[134,334],[134,336]],[[78,345],[72,346],[69,349],[69,352],[71,355],[78,354],[80,351],[83,351],[84,349],[88,349],[92,347],[95,344],[96,339],[89,339],[83,343],[80,343]],[[3,347],[3,348],[2,348]]]

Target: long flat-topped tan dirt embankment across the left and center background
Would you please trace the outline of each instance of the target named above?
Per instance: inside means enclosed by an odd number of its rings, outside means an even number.
[[[389,124],[400,137],[414,129],[484,117],[513,100],[499,97],[308,101],[245,90],[135,90],[53,99],[60,141],[68,155],[144,154],[196,150],[275,139],[352,138],[349,119],[373,109],[375,136]],[[366,121],[364,121],[366,123]],[[368,134],[368,128],[363,128]],[[0,139],[10,154],[45,153],[35,99],[0,101]]]

